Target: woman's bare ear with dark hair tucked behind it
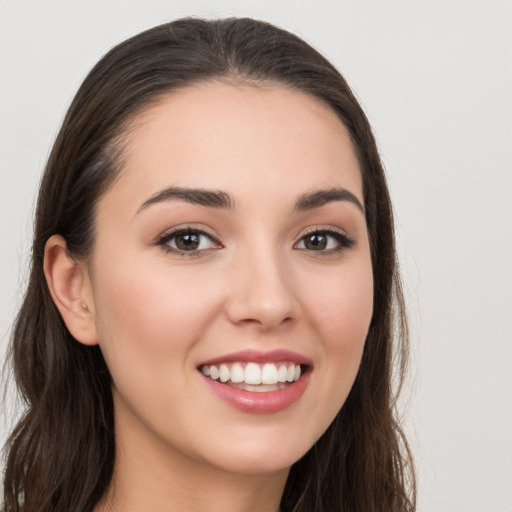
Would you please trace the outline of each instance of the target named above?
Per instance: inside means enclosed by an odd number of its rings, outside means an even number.
[[[53,235],[44,250],[44,275],[53,302],[71,335],[84,345],[96,345],[98,335],[89,274],[69,254],[66,241]]]

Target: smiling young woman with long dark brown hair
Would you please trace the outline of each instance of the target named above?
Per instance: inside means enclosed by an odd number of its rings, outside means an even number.
[[[414,510],[405,339],[339,73],[250,19],[148,30],[85,79],[41,183],[5,510]]]

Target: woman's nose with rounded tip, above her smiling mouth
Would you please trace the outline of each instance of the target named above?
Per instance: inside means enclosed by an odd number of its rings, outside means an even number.
[[[296,320],[301,311],[289,264],[277,251],[240,257],[229,277],[226,314],[237,325],[271,331]]]

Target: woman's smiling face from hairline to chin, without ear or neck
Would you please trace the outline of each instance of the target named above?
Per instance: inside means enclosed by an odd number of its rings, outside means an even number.
[[[124,157],[88,304],[118,449],[289,467],[342,407],[372,315],[346,129],[303,93],[210,83],[142,114]]]

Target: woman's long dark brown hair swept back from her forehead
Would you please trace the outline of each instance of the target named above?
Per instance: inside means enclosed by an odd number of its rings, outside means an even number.
[[[283,512],[415,509],[414,471],[396,416],[407,329],[391,203],[368,120],[339,72],[297,36],[252,19],[180,19],[108,52],[64,119],[41,183],[30,281],[10,357],[25,412],[10,435],[5,511],[90,512],[115,460],[111,378],[100,349],[78,343],[43,274],[45,243],[62,235],[71,255],[94,244],[95,204],[122,168],[123,134],[162,95],[198,82],[274,83],[329,105],[348,129],[363,178],[374,311],[346,403],[291,468]]]

